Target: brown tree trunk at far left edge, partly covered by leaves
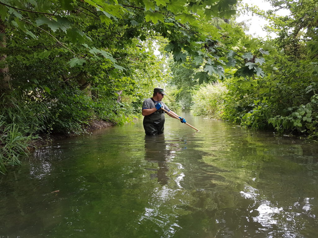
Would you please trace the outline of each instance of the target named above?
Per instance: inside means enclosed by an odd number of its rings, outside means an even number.
[[[6,47],[6,37],[5,37],[5,24],[0,19],[0,48]],[[7,58],[6,54],[0,55],[0,92],[4,93],[10,90],[10,75],[9,75],[9,67],[4,62]]]

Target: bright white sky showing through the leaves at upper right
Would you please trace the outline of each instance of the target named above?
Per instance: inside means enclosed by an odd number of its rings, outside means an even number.
[[[245,5],[247,3],[249,6],[258,6],[260,10],[273,10],[274,8],[269,2],[264,0],[243,0],[242,4]],[[277,15],[287,16],[290,14],[290,11],[287,9],[282,9],[276,12]],[[241,14],[236,18],[236,22],[245,22],[249,26],[249,30],[246,31],[246,34],[252,35],[253,37],[262,37],[268,38],[268,33],[263,30],[263,27],[269,23],[267,19],[256,16],[255,14],[252,16],[251,13]],[[269,37],[275,38],[277,35],[275,33],[269,34]]]

